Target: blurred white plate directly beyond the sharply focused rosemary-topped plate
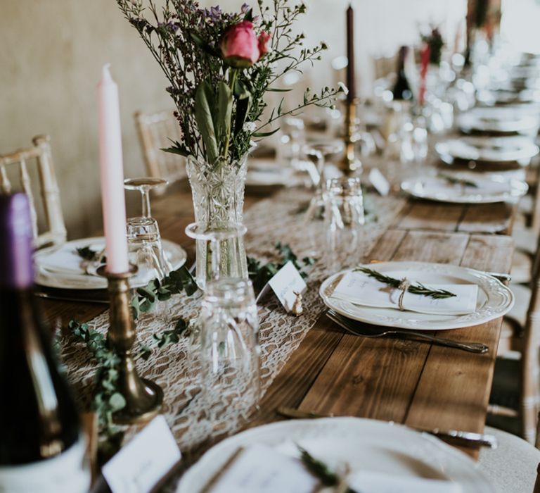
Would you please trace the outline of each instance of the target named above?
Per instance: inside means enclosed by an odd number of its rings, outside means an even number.
[[[451,204],[495,204],[496,202],[517,201],[527,193],[527,183],[519,180],[503,180],[503,178],[477,177],[471,180],[469,175],[452,173],[445,175],[458,180],[468,180],[475,183],[462,186],[452,184],[444,177],[416,177],[401,183],[401,189],[418,199],[436,200]]]

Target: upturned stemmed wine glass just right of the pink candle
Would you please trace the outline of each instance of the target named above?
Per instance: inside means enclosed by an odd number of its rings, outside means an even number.
[[[124,180],[125,189],[141,193],[142,214],[127,220],[127,242],[129,261],[139,268],[139,280],[146,282],[163,279],[172,270],[163,253],[158,221],[150,215],[150,190],[165,185],[167,181],[150,177]]]

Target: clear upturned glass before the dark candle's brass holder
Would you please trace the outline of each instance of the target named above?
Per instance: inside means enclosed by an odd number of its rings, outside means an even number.
[[[360,178],[328,180],[325,199],[325,264],[331,270],[357,266],[365,253],[364,197]]]

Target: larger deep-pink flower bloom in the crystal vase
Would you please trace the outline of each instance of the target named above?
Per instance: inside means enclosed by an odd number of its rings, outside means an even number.
[[[253,23],[244,20],[225,31],[219,43],[219,48],[223,58],[229,65],[238,68],[250,67],[261,56],[259,39],[257,39],[253,30]]]

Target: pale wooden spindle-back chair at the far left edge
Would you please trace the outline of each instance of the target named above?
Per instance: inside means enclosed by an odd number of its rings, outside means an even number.
[[[28,149],[0,155],[0,190],[9,194],[16,188],[27,194],[34,247],[39,249],[42,246],[62,244],[66,240],[67,233],[60,206],[60,190],[54,173],[50,137],[38,135],[32,139],[32,144],[34,145]],[[31,166],[37,168],[37,173],[34,173]],[[38,177],[41,197],[37,196],[37,188],[32,180],[34,174]],[[42,220],[37,212],[38,201],[43,204]]]

